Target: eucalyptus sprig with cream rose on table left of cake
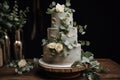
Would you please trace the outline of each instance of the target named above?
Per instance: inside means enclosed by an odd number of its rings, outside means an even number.
[[[38,59],[34,58],[32,61],[21,59],[21,60],[13,60],[9,64],[7,64],[5,67],[15,68],[15,73],[21,75],[25,72],[30,72],[32,69],[38,67]]]

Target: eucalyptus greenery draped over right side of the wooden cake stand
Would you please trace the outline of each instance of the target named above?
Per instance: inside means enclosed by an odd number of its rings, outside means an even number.
[[[86,77],[87,80],[99,80],[97,70],[101,68],[100,63],[94,59],[93,53],[82,51],[81,61],[75,61],[72,67],[86,65],[88,65],[88,68],[83,71],[83,76]]]

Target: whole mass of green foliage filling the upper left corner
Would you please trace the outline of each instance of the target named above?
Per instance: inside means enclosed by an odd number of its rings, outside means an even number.
[[[24,11],[20,10],[17,1],[13,8],[6,0],[0,3],[0,40],[4,39],[9,31],[21,29],[24,26],[28,11],[28,7]]]

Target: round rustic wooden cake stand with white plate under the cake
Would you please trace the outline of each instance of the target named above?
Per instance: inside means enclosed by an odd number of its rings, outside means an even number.
[[[54,77],[58,79],[66,79],[66,78],[76,78],[79,77],[81,71],[85,70],[87,67],[85,66],[77,66],[71,67],[68,65],[54,65],[45,63],[42,58],[39,59],[40,67],[46,71],[49,77]]]

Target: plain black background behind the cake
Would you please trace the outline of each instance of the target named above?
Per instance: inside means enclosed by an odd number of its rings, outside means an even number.
[[[21,9],[30,7],[28,22],[23,28],[23,54],[26,58],[40,58],[43,53],[41,40],[46,38],[51,22],[46,10],[52,1],[18,0]],[[54,1],[65,3],[65,0]],[[88,25],[86,34],[79,36],[79,39],[89,40],[91,45],[83,48],[93,52],[96,58],[111,58],[120,63],[119,3],[115,0],[71,0],[71,8],[76,10],[74,21]],[[36,32],[34,38],[31,38],[33,24]]]

